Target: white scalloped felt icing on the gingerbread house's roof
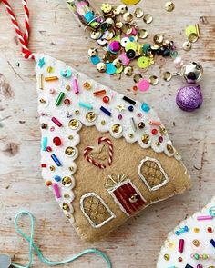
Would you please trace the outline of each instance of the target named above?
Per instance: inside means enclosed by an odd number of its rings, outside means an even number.
[[[38,65],[39,61],[44,58],[44,65]],[[55,183],[58,185],[59,192],[61,194],[60,198],[56,198],[56,201],[60,203],[62,207],[62,203],[68,203],[70,207],[70,214],[66,211],[67,217],[70,219],[71,223],[74,222],[72,212],[72,201],[69,198],[64,197],[64,193],[68,190],[70,193],[72,193],[72,189],[75,185],[75,179],[73,175],[76,173],[77,165],[75,163],[75,160],[78,156],[78,150],[77,150],[77,144],[80,143],[80,137],[78,134],[78,131],[81,129],[82,125],[86,126],[93,126],[95,125],[97,130],[101,133],[109,132],[114,138],[120,138],[124,137],[126,141],[130,144],[138,142],[138,144],[144,149],[151,147],[155,152],[162,153],[164,152],[169,157],[173,156],[177,160],[180,160],[180,155],[176,154],[176,150],[173,148],[174,152],[173,154],[170,154],[167,145],[171,144],[171,141],[169,140],[168,134],[163,135],[163,142],[158,146],[156,143],[158,142],[159,135],[153,135],[151,134],[152,128],[158,128],[157,126],[152,126],[149,124],[151,120],[160,122],[160,119],[156,112],[150,108],[149,112],[146,113],[142,111],[141,104],[136,101],[136,104],[134,106],[134,111],[129,112],[128,106],[131,104],[128,104],[128,102],[123,100],[123,94],[118,94],[117,92],[111,90],[104,84],[99,84],[95,80],[88,77],[86,74],[82,74],[80,72],[77,72],[76,69],[66,65],[62,61],[58,61],[55,58],[52,58],[47,55],[36,55],[36,88],[38,93],[38,113],[40,114],[40,123],[41,124],[47,124],[47,129],[41,129],[41,135],[42,135],[42,141],[44,137],[47,137],[47,146],[51,146],[53,149],[53,152],[51,154],[56,154],[57,158],[62,163],[61,166],[56,166],[56,164],[53,162],[53,160],[50,157],[50,153],[41,150],[41,164],[46,164],[46,168],[42,168],[42,175],[44,179],[47,181],[51,181],[52,183]],[[51,66],[53,68],[53,71],[49,73],[47,71],[47,68]],[[71,71],[72,75],[71,77],[63,77],[61,75],[61,71],[69,70]],[[43,89],[40,88],[40,77],[41,74],[43,77],[50,77],[50,76],[57,76],[57,80],[53,82],[45,82],[43,81]],[[79,94],[75,94],[73,87],[72,87],[72,79],[73,77],[77,78],[77,83],[79,86]],[[83,88],[83,84],[85,82],[88,82],[91,84],[92,89],[86,90]],[[67,91],[66,86],[70,85],[71,90]],[[55,94],[50,94],[49,91],[54,89]],[[110,102],[109,104],[105,104],[102,101],[102,97],[95,97],[93,95],[93,92],[105,89],[106,95],[109,96]],[[70,99],[71,104],[66,105],[64,103],[60,104],[59,106],[56,106],[56,98],[57,95],[60,92],[64,92],[66,94],[66,98]],[[41,103],[41,99],[44,101]],[[90,104],[93,106],[93,109],[88,110],[87,108],[80,107],[78,105],[79,102],[84,102],[87,104]],[[123,104],[125,106],[125,110],[119,113],[118,109],[116,108],[118,104]],[[100,111],[100,107],[105,107],[108,111],[110,111],[112,114],[111,116],[107,116],[107,114],[104,114]],[[74,114],[74,111],[79,110],[80,114]],[[97,118],[93,122],[88,122],[86,118],[87,112],[93,111]],[[138,117],[138,114],[141,113],[142,117]],[[122,114],[123,118],[121,120],[118,119],[118,114]],[[56,126],[51,120],[52,117],[56,117],[58,121],[62,124],[61,127]],[[133,118],[135,124],[138,125],[139,122],[144,121],[146,124],[144,129],[139,129],[137,127],[137,130],[134,131],[134,127],[131,125],[131,118]],[[68,127],[68,122],[71,119],[76,119],[79,123],[77,129],[71,129]],[[101,124],[101,121],[106,121],[106,124]],[[114,124],[120,124],[122,126],[122,132],[120,134],[115,134],[112,131],[112,126]],[[163,124],[161,124],[163,126]],[[54,127],[54,131],[50,131],[50,129]],[[143,134],[148,134],[151,140],[150,144],[144,144],[141,140],[141,136]],[[73,135],[73,139],[69,140],[67,137],[68,135]],[[61,146],[55,146],[52,144],[52,140],[54,137],[60,137],[62,141]],[[77,154],[74,156],[68,157],[65,154],[65,150],[68,146],[73,147]],[[82,153],[81,153],[82,154]],[[51,165],[55,166],[55,171],[51,171],[49,167]],[[72,166],[73,171],[69,171],[68,167]],[[63,178],[64,176],[69,176],[72,179],[72,184],[70,187],[65,187],[62,182],[56,182],[55,175],[60,176]],[[49,187],[52,189],[52,187]],[[73,193],[72,193],[73,194]],[[67,195],[66,195],[67,196]],[[73,197],[74,198],[74,197]]]

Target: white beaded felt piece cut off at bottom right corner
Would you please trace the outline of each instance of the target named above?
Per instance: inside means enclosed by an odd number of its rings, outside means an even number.
[[[215,267],[215,197],[169,233],[157,268]]]

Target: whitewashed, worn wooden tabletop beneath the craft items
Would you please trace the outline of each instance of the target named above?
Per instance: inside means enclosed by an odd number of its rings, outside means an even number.
[[[11,2],[15,2],[17,17],[22,22],[21,1]],[[96,1],[97,5],[101,3],[101,0]],[[147,25],[148,40],[158,33],[171,35],[185,62],[200,61],[205,71],[200,82],[204,104],[199,111],[191,114],[179,110],[175,95],[179,86],[183,85],[180,78],[169,83],[160,81],[148,93],[134,95],[131,91],[129,95],[140,101],[145,99],[158,110],[175,146],[183,155],[193,187],[186,194],[154,204],[103,242],[93,245],[79,240],[41,177],[35,63],[22,58],[5,7],[0,5],[0,253],[11,254],[17,263],[27,262],[27,244],[17,236],[13,223],[15,213],[27,209],[36,216],[36,243],[52,260],[61,260],[93,246],[108,253],[113,267],[155,267],[167,233],[181,219],[199,210],[214,194],[215,1],[175,0],[176,8],[172,13],[165,11],[165,3],[166,0],[144,0],[138,4],[154,17],[153,23]],[[63,0],[29,1],[29,7],[32,27],[30,47],[33,51],[64,60],[97,81],[128,94],[128,88],[133,85],[131,78],[110,78],[97,73],[89,63],[87,49],[94,46],[94,41],[77,25]],[[184,29],[195,23],[200,24],[201,38],[186,53],[180,48],[186,39]],[[141,20],[139,25],[146,27]],[[160,72],[172,68],[171,60],[162,69],[154,65],[146,77],[160,75]],[[24,229],[26,232],[29,230],[26,223]],[[35,256],[34,267],[43,268],[45,265]],[[106,264],[99,257],[86,256],[64,267],[100,268],[106,267]]]

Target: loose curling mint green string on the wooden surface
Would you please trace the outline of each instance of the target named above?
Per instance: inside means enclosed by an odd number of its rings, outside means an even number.
[[[31,220],[31,233],[30,233],[30,236],[27,236],[26,233],[23,233],[21,231],[21,229],[19,228],[19,226],[18,226],[18,220],[23,215],[29,216],[29,218]],[[107,256],[107,254],[103,253],[101,251],[98,251],[97,249],[87,249],[87,250],[85,250],[85,251],[83,251],[81,253],[77,253],[72,258],[64,260],[64,261],[61,261],[61,262],[51,262],[48,259],[46,259],[44,257],[44,255],[43,255],[43,253],[41,253],[41,251],[38,249],[38,247],[34,243],[35,218],[34,218],[32,213],[29,213],[27,211],[21,211],[21,212],[19,212],[19,213],[17,213],[15,215],[15,231],[16,231],[16,233],[19,233],[26,240],[27,243],[29,243],[29,263],[26,266],[22,266],[22,265],[19,265],[17,263],[12,263],[12,265],[14,267],[16,267],[16,268],[29,268],[29,267],[31,267],[31,264],[33,262],[33,250],[36,251],[40,261],[42,263],[45,263],[48,266],[56,266],[56,265],[71,263],[71,262],[77,260],[78,258],[80,258],[83,255],[86,255],[88,253],[93,253],[93,254],[97,254],[97,255],[101,256],[104,260],[106,260],[107,268],[112,268],[112,264],[111,264],[111,262],[110,262],[110,260],[109,260],[109,258]]]

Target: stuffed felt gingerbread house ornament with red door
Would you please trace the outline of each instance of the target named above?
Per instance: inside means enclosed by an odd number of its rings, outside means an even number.
[[[97,241],[189,188],[180,155],[148,104],[46,55],[36,55],[36,79],[42,174],[81,238]]]

